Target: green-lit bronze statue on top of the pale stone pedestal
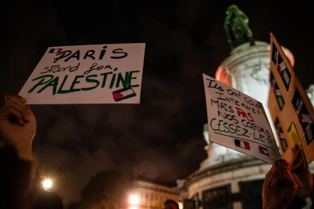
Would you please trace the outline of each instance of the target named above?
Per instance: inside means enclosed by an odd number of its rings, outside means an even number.
[[[228,7],[224,28],[227,33],[230,48],[250,42],[254,45],[253,33],[248,26],[249,18],[235,4]]]

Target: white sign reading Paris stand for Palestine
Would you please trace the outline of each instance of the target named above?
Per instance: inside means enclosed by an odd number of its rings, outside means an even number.
[[[27,104],[139,104],[145,44],[48,48],[19,95]]]

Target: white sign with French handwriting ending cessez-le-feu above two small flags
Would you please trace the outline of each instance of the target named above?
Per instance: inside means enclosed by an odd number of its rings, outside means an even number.
[[[274,164],[281,159],[260,102],[203,74],[209,140]]]

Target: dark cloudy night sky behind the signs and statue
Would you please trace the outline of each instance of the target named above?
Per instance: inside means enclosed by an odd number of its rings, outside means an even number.
[[[33,105],[38,170],[65,204],[100,171],[134,171],[175,184],[206,158],[202,73],[230,52],[221,0],[8,2],[2,8],[0,95],[17,94],[48,47],[146,43],[139,105]],[[166,3],[167,2],[167,3]],[[313,10],[303,1],[240,1],[256,40],[269,31],[295,57],[303,87],[314,82]],[[4,26],[4,27],[3,27]],[[4,104],[4,99],[0,101]]]

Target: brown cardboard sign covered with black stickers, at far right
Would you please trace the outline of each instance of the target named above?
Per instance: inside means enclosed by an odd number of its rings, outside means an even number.
[[[270,91],[268,108],[280,138],[281,155],[292,159],[291,148],[299,145],[307,164],[314,160],[314,109],[296,78],[281,46],[270,33]]]

